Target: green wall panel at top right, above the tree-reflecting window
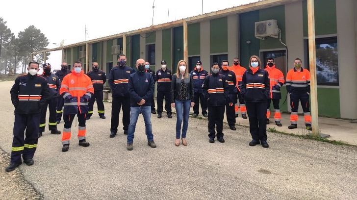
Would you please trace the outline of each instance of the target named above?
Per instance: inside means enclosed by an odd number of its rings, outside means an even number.
[[[314,0],[315,34],[327,35],[337,33],[336,0]],[[307,1],[303,1],[304,36],[308,36]]]

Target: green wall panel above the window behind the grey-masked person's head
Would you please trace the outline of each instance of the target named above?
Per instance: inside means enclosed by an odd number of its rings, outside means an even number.
[[[209,21],[209,42],[211,53],[228,52],[227,17]]]

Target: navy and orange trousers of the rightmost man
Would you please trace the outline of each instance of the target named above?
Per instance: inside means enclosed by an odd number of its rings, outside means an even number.
[[[299,101],[304,111],[305,125],[311,125],[311,115],[310,115],[310,103],[309,103],[309,94],[307,93],[291,93],[290,94],[290,123],[293,125],[298,124],[298,109]]]

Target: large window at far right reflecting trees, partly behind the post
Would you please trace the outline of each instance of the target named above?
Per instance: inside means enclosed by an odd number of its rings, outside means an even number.
[[[306,40],[308,63],[308,40]],[[316,78],[318,85],[338,85],[337,37],[316,39]]]

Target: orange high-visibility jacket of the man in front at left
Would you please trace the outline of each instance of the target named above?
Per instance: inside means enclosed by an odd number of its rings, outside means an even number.
[[[80,110],[80,98],[85,94],[92,97],[94,93],[91,78],[85,75],[83,71],[77,74],[72,70],[71,74],[64,76],[61,89],[59,90],[59,94],[62,97],[68,96],[66,93],[69,93],[73,98],[77,98],[79,112],[82,113]]]

